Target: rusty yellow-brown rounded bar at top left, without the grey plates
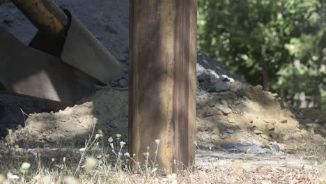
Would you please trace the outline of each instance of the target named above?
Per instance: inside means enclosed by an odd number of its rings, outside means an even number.
[[[38,29],[60,35],[65,33],[68,17],[51,0],[11,0]]]

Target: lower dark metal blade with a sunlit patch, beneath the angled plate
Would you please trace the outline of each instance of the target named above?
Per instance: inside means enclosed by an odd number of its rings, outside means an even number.
[[[61,59],[21,43],[0,28],[0,83],[8,92],[72,105],[95,91],[85,78]]]

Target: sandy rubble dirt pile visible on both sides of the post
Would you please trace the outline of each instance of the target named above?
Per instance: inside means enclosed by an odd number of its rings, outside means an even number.
[[[196,141],[201,148],[292,153],[326,141],[321,112],[286,107],[262,86],[230,79],[222,79],[230,89],[220,92],[208,92],[199,82]],[[82,145],[95,125],[105,138],[121,134],[127,141],[127,97],[127,89],[101,89],[63,111],[30,114],[26,126],[11,136],[24,146]]]

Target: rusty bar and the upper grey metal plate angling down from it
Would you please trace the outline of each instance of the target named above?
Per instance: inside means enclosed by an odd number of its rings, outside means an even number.
[[[31,47],[60,57],[103,84],[109,84],[110,79],[122,73],[114,56],[68,10],[61,10],[51,0],[12,1],[39,29]]]

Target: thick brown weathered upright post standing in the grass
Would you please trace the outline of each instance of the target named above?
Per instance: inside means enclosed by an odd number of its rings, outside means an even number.
[[[196,0],[130,0],[130,155],[153,161],[160,139],[166,171],[194,164],[196,8]]]

